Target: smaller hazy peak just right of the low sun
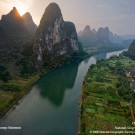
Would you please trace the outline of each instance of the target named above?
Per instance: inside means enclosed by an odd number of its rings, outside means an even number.
[[[22,18],[27,30],[32,34],[35,34],[37,30],[37,25],[33,22],[31,14],[27,12],[22,16]]]

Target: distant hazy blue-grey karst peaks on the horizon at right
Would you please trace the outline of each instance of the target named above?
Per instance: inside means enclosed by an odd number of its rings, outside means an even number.
[[[96,31],[95,29],[91,29],[89,25],[87,25],[83,31],[80,31],[78,36],[84,48],[124,49],[128,48],[133,40],[113,34],[108,27],[100,27]]]

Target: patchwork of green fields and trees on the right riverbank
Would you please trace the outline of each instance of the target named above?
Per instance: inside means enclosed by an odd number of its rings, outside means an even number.
[[[128,72],[133,66],[135,61],[113,56],[89,68],[80,99],[79,135],[133,127],[135,92],[131,82],[134,75]]]

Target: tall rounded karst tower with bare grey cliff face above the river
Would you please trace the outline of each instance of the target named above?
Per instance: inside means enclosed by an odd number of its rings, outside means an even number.
[[[73,23],[65,22],[59,6],[51,3],[40,21],[34,41],[36,67],[57,66],[80,51]]]

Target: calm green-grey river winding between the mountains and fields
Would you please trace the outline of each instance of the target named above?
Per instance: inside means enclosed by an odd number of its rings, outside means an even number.
[[[1,120],[0,135],[77,135],[79,97],[89,66],[122,51],[99,53],[43,76]]]

